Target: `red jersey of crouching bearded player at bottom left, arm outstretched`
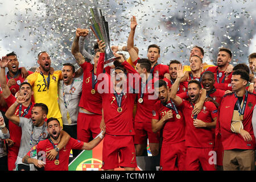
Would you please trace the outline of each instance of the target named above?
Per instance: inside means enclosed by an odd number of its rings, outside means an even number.
[[[57,146],[57,143],[54,143],[55,146]],[[70,138],[68,140],[68,143],[65,147],[63,147],[59,151],[59,165],[55,165],[55,160],[49,160],[46,158],[46,164],[44,167],[44,171],[68,171],[68,161],[69,161],[69,154],[71,149],[77,149],[81,150],[82,146],[84,145],[84,142],[80,142],[80,140],[76,140],[73,138]],[[40,151],[48,152],[53,149],[53,145],[51,142],[49,142],[48,139],[41,140],[38,143],[37,146],[37,154],[40,154]],[[30,152],[34,150],[34,147],[31,148],[31,150],[27,153],[28,156],[30,156]],[[38,156],[40,158],[40,155]]]

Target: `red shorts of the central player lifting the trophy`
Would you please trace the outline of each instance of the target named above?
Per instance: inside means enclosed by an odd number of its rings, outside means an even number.
[[[137,167],[133,136],[106,134],[102,147],[102,169],[118,167]]]

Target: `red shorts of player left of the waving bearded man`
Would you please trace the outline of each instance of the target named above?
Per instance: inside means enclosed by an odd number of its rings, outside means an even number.
[[[185,141],[162,144],[160,154],[160,171],[185,171]]]

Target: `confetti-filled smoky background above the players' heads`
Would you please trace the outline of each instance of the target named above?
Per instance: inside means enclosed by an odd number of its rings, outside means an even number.
[[[40,51],[51,55],[56,69],[75,63],[71,45],[76,28],[89,29],[90,7],[100,8],[109,22],[110,46],[126,45],[130,18],[135,15],[134,44],[139,56],[146,57],[147,46],[158,44],[160,63],[177,59],[187,64],[195,45],[205,49],[208,64],[215,62],[220,47],[232,50],[233,64],[247,64],[247,56],[256,52],[255,0],[10,0],[0,5],[0,53],[15,51],[20,66],[27,68],[36,65]],[[90,32],[85,43],[88,52],[94,43]]]

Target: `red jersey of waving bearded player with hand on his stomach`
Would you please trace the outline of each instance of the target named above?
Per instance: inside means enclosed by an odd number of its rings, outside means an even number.
[[[211,148],[214,147],[214,131],[209,128],[197,128],[193,125],[193,106],[189,101],[183,100],[182,111],[185,118],[186,135],[185,145],[188,147]],[[218,110],[212,102],[204,102],[203,109],[197,115],[197,119],[203,122],[213,122],[217,117]]]

